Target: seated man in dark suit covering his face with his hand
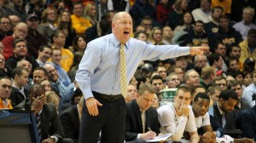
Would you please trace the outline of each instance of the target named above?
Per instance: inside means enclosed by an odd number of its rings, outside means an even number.
[[[32,85],[29,95],[31,110],[35,115],[40,115],[41,140],[42,142],[61,142],[64,137],[61,122],[56,112],[55,106],[46,103],[44,87],[38,83]]]

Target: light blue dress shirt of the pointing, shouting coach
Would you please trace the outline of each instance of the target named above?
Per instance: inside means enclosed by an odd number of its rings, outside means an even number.
[[[85,100],[94,97],[91,91],[109,95],[120,94],[119,46],[120,42],[113,34],[88,43],[76,74],[76,81]],[[126,82],[129,83],[142,60],[166,60],[187,54],[190,54],[189,47],[153,45],[130,38],[125,43]]]

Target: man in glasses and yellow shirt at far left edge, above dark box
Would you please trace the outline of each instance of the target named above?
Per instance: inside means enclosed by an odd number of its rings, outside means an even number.
[[[10,100],[8,100],[12,90],[12,80],[10,77],[0,77],[0,109],[13,109]]]

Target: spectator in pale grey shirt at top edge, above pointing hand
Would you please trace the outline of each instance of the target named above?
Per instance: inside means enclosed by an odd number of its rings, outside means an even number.
[[[194,9],[192,15],[195,19],[203,21],[203,23],[208,23],[212,20],[211,17],[211,0],[201,0],[201,8]]]

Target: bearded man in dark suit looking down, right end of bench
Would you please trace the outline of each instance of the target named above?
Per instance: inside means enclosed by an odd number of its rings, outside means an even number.
[[[219,94],[218,102],[213,105],[213,117],[220,123],[224,129],[236,129],[235,119],[237,117],[234,108],[238,101],[235,91],[227,89]],[[223,119],[224,115],[224,119]]]

